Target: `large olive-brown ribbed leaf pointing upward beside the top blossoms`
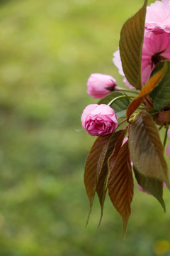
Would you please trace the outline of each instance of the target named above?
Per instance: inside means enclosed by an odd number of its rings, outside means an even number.
[[[128,19],[120,32],[120,58],[123,72],[130,85],[141,88],[141,58],[145,30],[147,0],[142,9]]]

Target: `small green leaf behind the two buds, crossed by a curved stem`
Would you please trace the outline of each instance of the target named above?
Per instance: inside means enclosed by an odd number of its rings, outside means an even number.
[[[106,97],[103,97],[103,99],[98,102],[98,105],[101,105],[101,104],[108,105],[108,103],[111,102],[111,100],[123,95],[124,94],[122,92],[111,92]],[[113,108],[117,119],[119,119],[120,117],[123,117],[123,115],[125,115],[126,109],[129,104],[130,104],[130,100],[128,99],[128,97],[122,97],[118,100],[115,100],[115,102],[113,102],[113,104],[110,107]]]

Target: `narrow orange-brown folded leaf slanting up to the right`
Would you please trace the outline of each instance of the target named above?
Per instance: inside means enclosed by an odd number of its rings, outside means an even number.
[[[146,99],[147,95],[149,95],[149,93],[152,92],[152,90],[154,90],[154,88],[159,84],[159,82],[164,77],[165,72],[166,66],[164,65],[164,68],[162,68],[162,70],[159,70],[158,73],[154,74],[146,83],[146,85],[142,87],[140,95],[132,100],[132,102],[128,106],[128,109],[126,111],[126,115],[128,118],[135,110],[137,110],[137,107],[141,105],[141,103]]]

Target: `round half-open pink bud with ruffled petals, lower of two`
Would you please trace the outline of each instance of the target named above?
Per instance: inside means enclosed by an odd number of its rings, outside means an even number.
[[[111,134],[118,127],[114,110],[105,104],[90,104],[81,115],[82,127],[92,136]]]

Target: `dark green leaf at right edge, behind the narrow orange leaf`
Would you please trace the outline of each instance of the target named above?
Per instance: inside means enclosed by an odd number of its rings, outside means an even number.
[[[154,88],[150,96],[152,100],[154,100],[154,109],[155,110],[162,110],[162,108],[166,107],[170,103],[170,62],[165,62],[167,65],[166,73],[164,78],[159,82],[159,85]],[[159,63],[153,70],[158,70],[162,68],[162,63]]]

